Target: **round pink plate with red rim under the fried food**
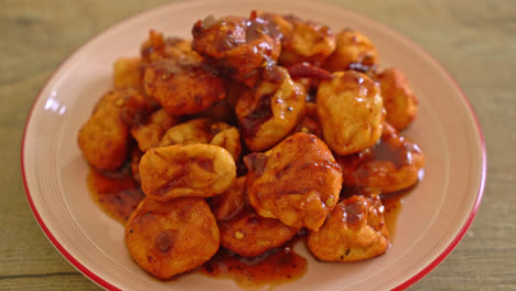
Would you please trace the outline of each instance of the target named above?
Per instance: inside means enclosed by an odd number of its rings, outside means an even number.
[[[294,13],[329,24],[352,26],[378,48],[381,65],[409,77],[420,111],[406,134],[426,154],[424,180],[404,198],[397,234],[387,254],[352,265],[309,259],[301,279],[278,290],[406,289],[436,268],[473,220],[484,190],[486,157],[475,115],[456,83],[419,46],[356,13],[310,1],[189,1],[160,7],[100,33],[75,52],[52,76],[29,116],[22,171],[32,212],[57,250],[80,272],[110,290],[236,290],[230,280],[191,273],[162,282],[142,271],[123,244],[123,227],[92,201],[88,168],[76,142],[79,127],[111,85],[111,64],[137,55],[149,29],[191,37],[192,24],[208,14],[247,15],[252,9]]]

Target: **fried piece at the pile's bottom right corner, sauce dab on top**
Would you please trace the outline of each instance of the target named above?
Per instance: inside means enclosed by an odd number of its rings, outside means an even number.
[[[323,261],[358,261],[384,254],[389,234],[378,197],[352,196],[330,213],[319,231],[310,231],[308,247]]]

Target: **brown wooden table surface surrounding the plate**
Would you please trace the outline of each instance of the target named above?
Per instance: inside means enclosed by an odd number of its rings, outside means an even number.
[[[20,144],[52,72],[103,29],[164,0],[0,0],[0,290],[96,290],[53,248],[25,200]],[[488,157],[477,216],[413,290],[516,290],[516,3],[512,0],[333,1],[429,51],[465,90]]]

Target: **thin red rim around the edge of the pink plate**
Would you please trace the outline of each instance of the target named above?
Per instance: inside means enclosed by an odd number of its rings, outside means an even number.
[[[25,121],[25,127],[23,129],[23,138],[22,138],[22,147],[21,147],[21,170],[22,170],[22,176],[23,176],[23,186],[25,188],[25,194],[26,194],[26,200],[29,201],[29,205],[31,206],[31,211],[32,211],[32,214],[34,215],[35,219],[37,220],[37,224],[40,225],[41,229],[43,230],[43,233],[45,234],[45,236],[49,238],[49,240],[54,245],[54,247],[60,251],[61,255],[63,255],[63,257],[65,257],[66,260],[68,260],[78,271],[80,271],[84,276],[86,276],[87,278],[89,278],[92,281],[94,281],[95,283],[99,284],[100,287],[103,288],[106,288],[108,290],[120,290],[119,288],[115,287],[114,284],[109,283],[108,281],[104,280],[103,278],[100,278],[99,276],[97,276],[96,273],[94,273],[93,271],[90,271],[88,268],[86,268],[84,265],[82,265],[77,259],[75,259],[72,254],[69,254],[61,244],[60,241],[52,235],[52,233],[50,231],[49,227],[45,225],[45,223],[43,222],[42,217],[40,216],[40,214],[37,213],[37,209],[34,205],[34,202],[32,200],[32,196],[31,196],[31,193],[29,191],[29,185],[28,185],[28,182],[26,182],[26,175],[25,175],[25,162],[24,162],[24,150],[25,150],[25,138],[26,138],[26,129],[29,127],[29,121],[31,120],[31,116],[34,111],[34,107],[35,107],[35,104],[37,103],[37,100],[42,97],[42,94],[43,91],[46,89],[46,87],[49,86],[49,83],[54,78],[54,76],[61,71],[61,68],[68,63],[68,61],[74,56],[76,55],[85,45],[87,45],[88,43],[92,43],[93,41],[95,41],[97,37],[99,37],[100,35],[107,33],[108,31],[110,30],[114,30],[115,28],[121,25],[122,23],[126,23],[127,21],[130,21],[131,19],[133,18],[137,18],[137,17],[140,17],[142,14],[147,14],[147,13],[152,13],[153,11],[155,10],[159,10],[161,9],[162,7],[165,7],[166,4],[164,6],[160,6],[160,7],[157,7],[157,8],[153,8],[153,9],[150,9],[150,10],[147,10],[147,11],[143,11],[143,12],[140,12],[140,13],[137,13],[130,18],[127,18],[125,20],[121,20],[120,22],[118,22],[117,24],[114,24],[105,30],[103,30],[100,33],[98,33],[96,36],[94,36],[93,39],[90,39],[89,41],[87,41],[86,43],[84,43],[83,45],[80,45],[77,50],[75,50],[74,53],[72,53],[72,55],[69,55],[58,67],[57,69],[54,71],[54,73],[52,74],[52,76],[49,78],[49,80],[45,83],[45,85],[43,86],[43,88],[40,90],[40,93],[37,94],[37,97],[34,99],[34,103],[32,104],[32,107],[31,107],[31,110],[29,112],[29,116],[26,117],[26,121]],[[444,74],[447,76],[447,78],[449,80],[451,80],[452,85],[455,87],[455,89],[459,90],[460,93],[460,96],[461,98],[463,99],[463,101],[466,104],[467,106],[467,109],[470,111],[470,114],[472,115],[473,117],[473,120],[475,121],[475,128],[476,128],[476,132],[479,133],[479,138],[480,138],[480,141],[481,141],[481,148],[482,148],[482,174],[481,174],[481,181],[480,181],[480,185],[479,185],[479,192],[476,194],[476,200],[475,200],[475,204],[473,205],[473,208],[471,209],[470,212],[470,215],[467,216],[467,219],[466,222],[464,223],[464,225],[462,226],[462,228],[459,230],[459,233],[456,234],[455,238],[453,238],[453,240],[450,242],[450,245],[432,261],[430,262],[426,268],[423,268],[421,271],[419,271],[418,273],[416,273],[415,276],[412,276],[411,278],[409,278],[407,281],[402,282],[401,284],[397,285],[396,288],[394,288],[393,290],[405,290],[409,287],[411,287],[412,284],[415,284],[416,282],[418,282],[419,280],[421,280],[424,276],[427,276],[430,271],[432,271],[437,266],[439,266],[451,252],[452,250],[456,247],[456,245],[459,244],[459,241],[461,241],[461,239],[464,237],[466,230],[470,228],[471,224],[473,223],[473,219],[475,218],[475,215],[476,215],[476,212],[479,209],[479,206],[481,204],[481,201],[482,201],[482,196],[484,194],[484,186],[485,186],[485,177],[486,177],[486,172],[487,172],[487,155],[486,155],[486,150],[485,150],[485,140],[484,140],[484,134],[482,133],[482,128],[480,126],[480,122],[479,122],[479,118],[476,117],[476,114],[475,114],[475,110],[473,109],[473,106],[471,105],[470,100],[467,99],[465,93],[462,90],[462,88],[459,86],[459,84],[456,83],[456,80],[451,76],[451,74],[444,69],[444,67],[439,63],[437,62],[431,55],[430,53],[428,53],[427,51],[424,51],[422,47],[420,47],[418,44],[416,44],[412,40],[408,39],[407,36],[402,35],[401,33],[399,33],[398,31],[396,31],[395,29],[391,29],[389,26],[387,26],[386,24],[383,24],[380,22],[377,22],[377,21],[374,21],[367,17],[364,17],[362,14],[358,14],[354,11],[351,11],[351,10],[347,10],[345,8],[342,8],[340,7],[340,9],[343,9],[343,10],[346,10],[350,14],[353,14],[354,17],[357,17],[357,18],[362,18],[366,21],[369,21],[370,23],[377,25],[377,26],[380,26],[383,30],[394,34],[396,37],[399,37],[401,40],[404,40],[406,43],[408,43],[410,46],[412,46],[415,50],[417,50],[424,58],[429,60],[434,66],[437,66],[442,74]]]

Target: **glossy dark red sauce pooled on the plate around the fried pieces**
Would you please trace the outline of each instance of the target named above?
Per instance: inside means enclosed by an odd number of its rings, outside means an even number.
[[[107,175],[90,169],[87,182],[90,194],[99,207],[122,224],[144,197],[138,183],[128,173],[118,172],[118,174]],[[409,195],[412,190],[413,187],[381,195],[385,223],[391,241],[396,238],[397,219],[404,205],[402,198]],[[350,190],[350,192],[353,191]],[[347,195],[346,191],[343,190],[341,196],[346,197]],[[245,288],[284,284],[300,279],[308,269],[307,259],[292,250],[293,245],[300,240],[299,238],[301,237],[295,237],[286,246],[269,250],[257,258],[241,257],[221,248],[198,271],[213,278],[229,278]],[[172,278],[172,281],[174,279],[179,279],[179,277]]]

